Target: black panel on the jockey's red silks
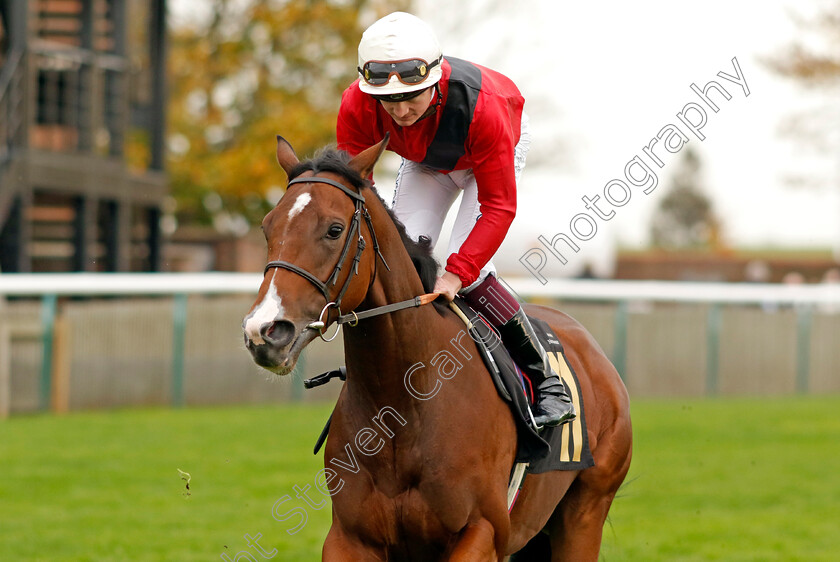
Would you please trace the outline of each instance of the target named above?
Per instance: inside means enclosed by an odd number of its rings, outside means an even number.
[[[446,57],[452,72],[449,91],[435,138],[421,164],[436,170],[454,170],[464,154],[470,124],[481,92],[481,70],[474,64]]]

